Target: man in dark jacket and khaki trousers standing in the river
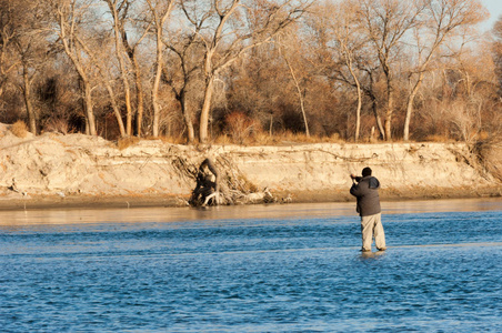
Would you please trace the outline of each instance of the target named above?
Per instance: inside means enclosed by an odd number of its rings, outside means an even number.
[[[379,251],[385,251],[385,234],[382,225],[379,189],[380,182],[371,175],[369,167],[362,170],[362,176],[351,174],[350,194],[358,199],[358,213],[361,216],[362,252],[371,252],[373,242]]]

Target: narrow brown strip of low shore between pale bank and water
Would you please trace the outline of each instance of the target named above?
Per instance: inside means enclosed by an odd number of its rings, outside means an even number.
[[[16,195],[0,196],[0,211],[22,211],[22,210],[70,210],[70,209],[119,209],[119,208],[183,208],[188,206],[189,195],[173,194],[141,194],[141,195]],[[273,193],[278,202],[288,193]],[[382,201],[421,201],[442,199],[483,199],[502,198],[502,186],[479,188],[479,189],[445,189],[445,188],[423,188],[413,191],[396,191],[395,189],[382,189],[380,191]],[[331,202],[355,202],[355,199],[347,191],[323,190],[323,191],[301,191],[292,195],[291,203],[331,203]],[[262,204],[260,203],[248,203]]]

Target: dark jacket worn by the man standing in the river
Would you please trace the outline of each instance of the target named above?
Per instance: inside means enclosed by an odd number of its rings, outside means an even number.
[[[358,213],[361,216],[374,215],[380,213],[380,182],[374,176],[362,178],[359,183],[352,184],[350,194],[358,199]]]

